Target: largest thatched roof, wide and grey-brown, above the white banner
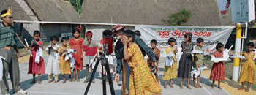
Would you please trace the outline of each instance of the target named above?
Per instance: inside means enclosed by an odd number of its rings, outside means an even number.
[[[187,26],[226,26],[231,23],[231,17],[223,22],[216,0],[86,0],[80,18],[87,23],[165,25],[161,20],[181,9],[192,13],[185,23]]]

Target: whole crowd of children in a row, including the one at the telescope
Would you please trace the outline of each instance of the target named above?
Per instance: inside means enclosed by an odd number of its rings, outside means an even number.
[[[122,34],[123,38],[121,38],[124,45],[124,60],[126,60],[129,66],[132,68],[130,72],[132,76],[129,77],[129,94],[146,94],[143,89],[139,89],[135,86],[145,86],[145,88],[148,89],[147,91],[159,94],[162,92],[158,85],[158,65],[161,50],[157,48],[157,40],[152,39],[150,42],[151,49],[155,54],[155,58],[157,59],[157,64],[155,64],[150,58],[148,58],[147,62],[144,60],[143,55],[140,52],[140,47],[132,42],[132,39],[134,39],[132,36],[134,34],[140,35],[140,32],[136,31],[135,33],[128,30]],[[35,75],[38,75],[37,81],[40,84],[40,75],[43,74],[48,75],[48,83],[53,82],[54,75],[54,82],[57,83],[59,80],[58,75],[60,73],[63,77],[62,83],[66,83],[65,75],[69,75],[70,82],[80,82],[79,73],[80,70],[83,69],[83,66],[86,67],[86,80],[84,83],[88,83],[89,69],[91,69],[91,72],[94,69],[91,61],[95,61],[94,58],[97,56],[97,44],[91,39],[92,35],[92,32],[88,31],[86,33],[86,39],[84,40],[80,37],[79,29],[75,29],[75,31],[73,31],[74,37],[69,40],[70,46],[67,45],[68,39],[65,37],[61,38],[61,45],[57,45],[58,39],[56,36],[50,37],[50,45],[45,48],[45,52],[49,55],[48,63],[45,68],[45,63],[42,56],[43,42],[39,38],[40,32],[34,31],[34,39],[31,41],[31,47],[28,47],[28,49],[31,50],[28,72],[28,74],[33,75],[33,80],[31,83],[36,83]],[[169,86],[173,88],[173,79],[179,77],[181,78],[180,88],[183,88],[183,80],[184,78],[187,78],[187,88],[191,89],[189,86],[189,80],[192,69],[198,71],[198,69],[204,65],[204,55],[202,53],[192,53],[194,49],[203,52],[202,47],[204,40],[202,38],[198,38],[196,43],[197,46],[192,44],[192,34],[188,33],[184,35],[184,42],[181,44],[181,52],[183,53],[179,63],[177,63],[176,53],[178,52],[178,49],[175,47],[176,39],[171,37],[167,40],[169,47],[167,47],[164,51],[164,54],[167,57],[165,59],[164,75],[162,76],[162,80],[165,81],[164,88],[167,88],[168,80],[170,80]],[[211,55],[216,58],[222,58],[224,46],[225,45],[220,42],[217,43],[216,51],[211,53]],[[255,61],[253,60],[255,53],[252,52],[254,46],[255,45],[252,42],[249,42],[247,44],[246,52],[243,53],[246,61],[241,69],[241,76],[239,80],[239,82],[241,82],[241,88],[238,88],[239,90],[244,89],[244,82],[248,82],[248,88],[246,88],[246,91],[249,91],[249,86],[251,83],[255,83]],[[102,47],[101,44],[99,44],[99,48],[100,47]],[[70,52],[69,50],[75,50],[75,52]],[[83,51],[86,52],[84,54],[85,61],[83,61]],[[72,64],[72,62],[75,64]],[[115,69],[113,68],[112,71],[115,72]],[[73,78],[71,78],[72,74]],[[222,89],[220,83],[224,79],[225,66],[223,61],[214,63],[210,75],[210,80],[213,81],[211,88],[214,88],[215,81],[218,81],[217,88]],[[141,82],[141,80],[147,81]],[[95,81],[93,80],[92,83],[95,83]],[[198,75],[193,75],[193,86],[195,88],[202,88],[200,85],[200,73]]]

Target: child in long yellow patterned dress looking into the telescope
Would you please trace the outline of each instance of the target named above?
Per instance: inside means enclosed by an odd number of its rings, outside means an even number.
[[[146,64],[140,47],[132,42],[133,31],[124,31],[121,40],[124,45],[124,60],[130,66],[129,94],[161,94],[162,89]]]

